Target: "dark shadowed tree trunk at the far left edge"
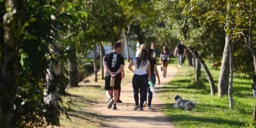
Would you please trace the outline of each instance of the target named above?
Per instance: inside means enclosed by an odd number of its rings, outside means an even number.
[[[3,16],[4,43],[1,51],[0,72],[0,127],[12,125],[13,105],[19,86],[19,41],[24,25],[23,1],[6,0],[7,12]]]

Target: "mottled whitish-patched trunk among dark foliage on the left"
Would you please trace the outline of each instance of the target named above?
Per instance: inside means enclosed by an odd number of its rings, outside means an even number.
[[[56,42],[50,49],[52,59],[47,68],[44,91],[44,102],[47,105],[45,115],[51,125],[60,125],[60,88],[63,86],[63,74],[61,72],[61,49],[62,44]]]

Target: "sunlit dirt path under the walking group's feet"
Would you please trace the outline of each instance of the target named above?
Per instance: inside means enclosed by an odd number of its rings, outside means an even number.
[[[167,77],[163,78],[163,72],[159,73],[161,77],[161,85],[159,87],[166,86],[168,82],[172,79],[177,72],[176,68],[168,67]],[[97,101],[97,104],[93,108],[99,111],[99,114],[106,119],[106,124],[104,127],[174,127],[170,120],[164,117],[161,108],[163,108],[164,103],[159,99],[159,95],[153,95],[152,99],[152,110],[147,108],[144,111],[134,111],[134,98],[132,92],[132,72],[125,66],[125,79],[122,81],[122,92],[120,99],[123,103],[118,103],[118,110],[107,108],[107,98]]]

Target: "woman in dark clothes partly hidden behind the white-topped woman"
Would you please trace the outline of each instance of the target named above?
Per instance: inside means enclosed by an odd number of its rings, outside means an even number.
[[[154,85],[156,84],[156,76],[157,76],[158,84],[160,84],[160,77],[158,74],[157,64],[156,64],[156,59],[154,58],[154,50],[153,49],[148,49],[148,61],[150,62],[152,83]],[[151,108],[152,97],[153,97],[153,92],[151,92],[150,87],[149,87],[148,88],[148,109],[152,109]]]

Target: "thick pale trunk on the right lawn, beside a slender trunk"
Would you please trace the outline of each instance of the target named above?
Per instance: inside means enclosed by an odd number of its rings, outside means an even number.
[[[229,49],[230,35],[226,36],[225,47],[223,51],[221,68],[220,68],[220,77],[218,83],[218,96],[222,97],[223,95],[228,94],[228,81],[229,81],[229,72],[230,72],[230,51]]]

